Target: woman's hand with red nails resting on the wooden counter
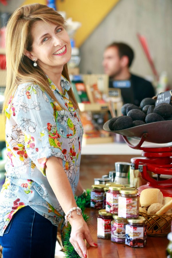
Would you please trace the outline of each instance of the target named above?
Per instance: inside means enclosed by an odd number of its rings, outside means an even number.
[[[87,223],[82,216],[77,215],[77,213],[73,211],[72,217],[69,218],[69,222],[72,226],[71,237],[69,241],[79,256],[85,258],[87,257],[87,247],[85,245],[84,239],[86,239],[87,243],[93,247],[97,247],[97,244],[94,243]]]

